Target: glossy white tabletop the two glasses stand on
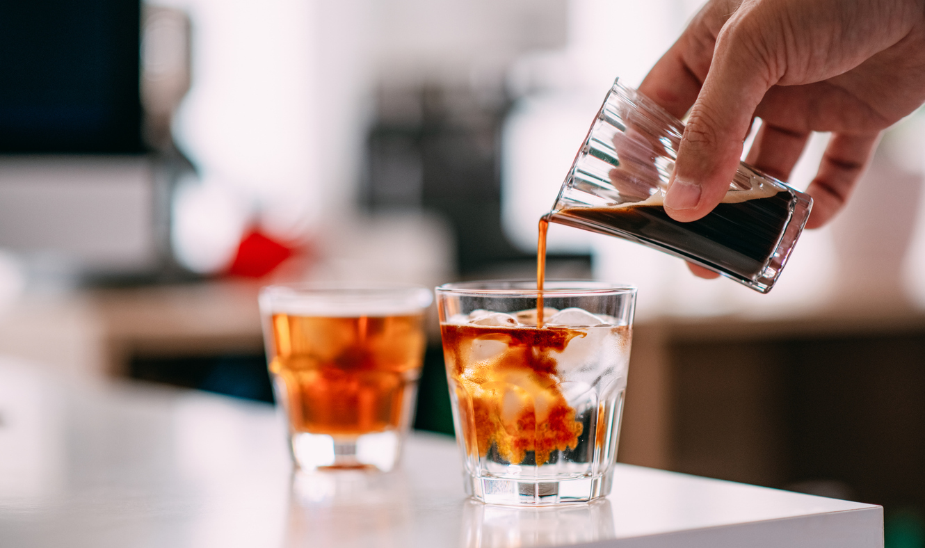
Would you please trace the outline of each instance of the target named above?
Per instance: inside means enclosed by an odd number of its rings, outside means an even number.
[[[269,405],[0,359],[0,546],[882,547],[882,508],[620,466],[593,504],[469,501],[447,437],[388,475],[291,473]]]

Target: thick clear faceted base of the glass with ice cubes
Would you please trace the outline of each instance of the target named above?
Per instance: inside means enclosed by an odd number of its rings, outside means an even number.
[[[611,492],[611,473],[595,478],[546,481],[502,478],[465,479],[466,493],[486,504],[546,505],[586,503]]]

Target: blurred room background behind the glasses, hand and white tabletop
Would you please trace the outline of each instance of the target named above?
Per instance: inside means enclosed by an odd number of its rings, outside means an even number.
[[[261,285],[531,278],[611,81],[700,4],[2,2],[0,353],[272,401]],[[923,152],[919,111],[769,295],[551,227],[551,278],[639,287],[621,460],[884,504],[925,546]],[[436,320],[425,361],[415,426],[451,433]]]

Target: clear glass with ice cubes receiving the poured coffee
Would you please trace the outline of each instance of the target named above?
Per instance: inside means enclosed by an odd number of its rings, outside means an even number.
[[[610,493],[635,288],[475,281],[437,300],[465,491],[514,505]]]

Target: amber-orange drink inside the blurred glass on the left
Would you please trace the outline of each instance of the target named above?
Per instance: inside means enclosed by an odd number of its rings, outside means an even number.
[[[275,314],[270,372],[295,432],[359,435],[405,425],[424,355],[424,317]],[[283,392],[283,393],[280,393]]]

